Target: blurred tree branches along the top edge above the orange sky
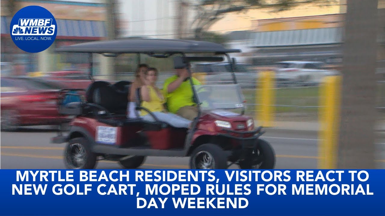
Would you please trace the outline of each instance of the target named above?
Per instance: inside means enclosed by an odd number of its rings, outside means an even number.
[[[195,5],[194,37],[200,40],[204,32],[228,13],[271,8],[271,12],[290,10],[304,4],[329,6],[336,0],[201,0]]]

